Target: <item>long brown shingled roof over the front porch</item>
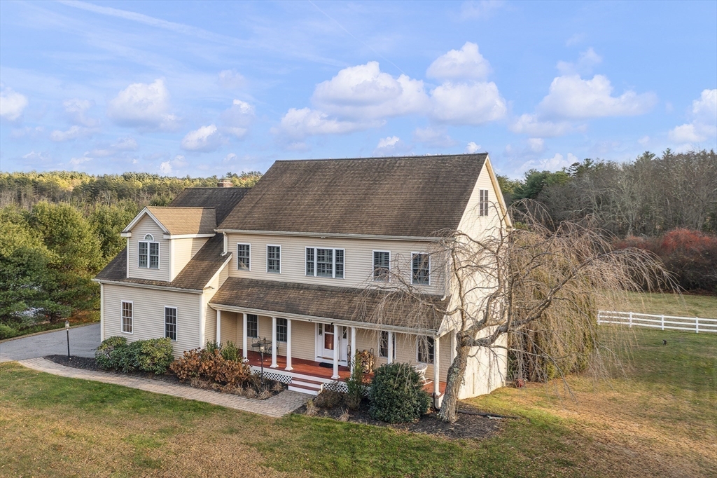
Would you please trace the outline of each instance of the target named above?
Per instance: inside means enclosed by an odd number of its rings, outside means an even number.
[[[438,330],[447,299],[420,298],[371,289],[315,286],[230,277],[210,305],[221,309],[265,310],[303,317],[381,324],[409,329]]]

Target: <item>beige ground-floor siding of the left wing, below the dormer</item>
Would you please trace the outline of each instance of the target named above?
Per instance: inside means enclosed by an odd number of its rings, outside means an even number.
[[[104,285],[104,337],[120,335],[132,342],[164,337],[164,307],[177,308],[174,355],[199,347],[199,294],[132,286]],[[133,303],[133,333],[122,332],[121,301]]]

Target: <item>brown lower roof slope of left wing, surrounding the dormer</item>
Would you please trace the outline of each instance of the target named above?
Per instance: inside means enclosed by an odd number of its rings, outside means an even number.
[[[222,256],[224,252],[224,238],[215,235],[197,251],[191,261],[174,278],[174,281],[150,281],[140,278],[127,278],[127,250],[123,249],[110,261],[95,277],[98,281],[113,281],[125,283],[138,283],[149,286],[173,287],[175,289],[189,289],[201,291],[219,268],[232,257],[231,253]]]

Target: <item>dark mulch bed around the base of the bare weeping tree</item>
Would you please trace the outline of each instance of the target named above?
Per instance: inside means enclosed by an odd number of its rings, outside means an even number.
[[[480,413],[480,411],[465,403],[460,404],[460,411],[472,411]],[[342,420],[341,416],[348,411],[348,420]],[[306,407],[299,408],[295,413],[306,414]],[[333,418],[338,421],[348,421],[349,423],[363,423],[366,425],[388,426],[395,430],[409,431],[412,433],[429,434],[442,436],[446,439],[486,439],[490,436],[498,434],[503,429],[505,421],[511,418],[494,419],[478,415],[469,415],[466,413],[458,413],[458,421],[455,423],[445,423],[437,418],[437,412],[429,410],[421,419],[414,423],[386,423],[371,418],[369,414],[369,403],[364,400],[357,410],[348,410],[345,406],[336,406],[333,408],[318,408],[318,417]]]

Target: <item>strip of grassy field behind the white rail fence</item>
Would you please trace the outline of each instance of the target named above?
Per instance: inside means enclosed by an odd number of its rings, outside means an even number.
[[[611,304],[600,304],[602,310],[616,310],[613,307],[615,306]],[[625,312],[717,319],[717,296],[632,293],[627,304],[621,304],[617,309]]]

